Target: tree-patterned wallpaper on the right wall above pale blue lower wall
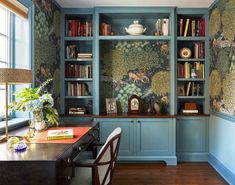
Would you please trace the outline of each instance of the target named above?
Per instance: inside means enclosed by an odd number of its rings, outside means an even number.
[[[235,115],[235,0],[220,0],[210,11],[211,109]]]

